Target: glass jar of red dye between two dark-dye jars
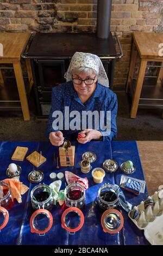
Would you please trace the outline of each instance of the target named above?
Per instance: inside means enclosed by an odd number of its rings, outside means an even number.
[[[85,189],[79,183],[71,183],[65,188],[65,205],[81,209],[85,205]]]

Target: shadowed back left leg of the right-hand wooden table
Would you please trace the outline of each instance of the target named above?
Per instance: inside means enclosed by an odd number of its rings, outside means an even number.
[[[137,57],[137,50],[136,50],[136,45],[133,42],[132,49],[131,49],[130,69],[129,69],[129,74],[128,74],[126,92],[128,92],[129,83],[133,80],[134,71],[135,71],[136,57]]]

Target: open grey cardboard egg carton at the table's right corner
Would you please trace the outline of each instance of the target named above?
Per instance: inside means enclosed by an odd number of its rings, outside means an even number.
[[[146,239],[152,245],[163,245],[163,186],[160,187],[160,190],[146,199],[152,200],[154,205],[149,203],[145,209],[146,200],[141,201],[140,205],[134,206],[133,210],[128,213],[136,227],[144,230]],[[159,198],[160,194],[161,198]],[[131,212],[135,215],[133,216]]]

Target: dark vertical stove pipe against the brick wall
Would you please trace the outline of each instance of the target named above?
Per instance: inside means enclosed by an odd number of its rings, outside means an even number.
[[[98,0],[97,3],[97,29],[98,38],[109,38],[110,35],[110,18],[111,18],[112,0]]]

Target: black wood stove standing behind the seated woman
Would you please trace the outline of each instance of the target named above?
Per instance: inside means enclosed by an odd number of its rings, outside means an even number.
[[[116,44],[120,53],[116,51]],[[32,66],[38,117],[48,117],[52,87],[66,81],[64,75],[76,51],[90,52],[101,58],[112,88],[115,59],[123,56],[116,36],[110,33],[109,38],[102,39],[94,33],[32,33],[22,57],[29,58]]]

